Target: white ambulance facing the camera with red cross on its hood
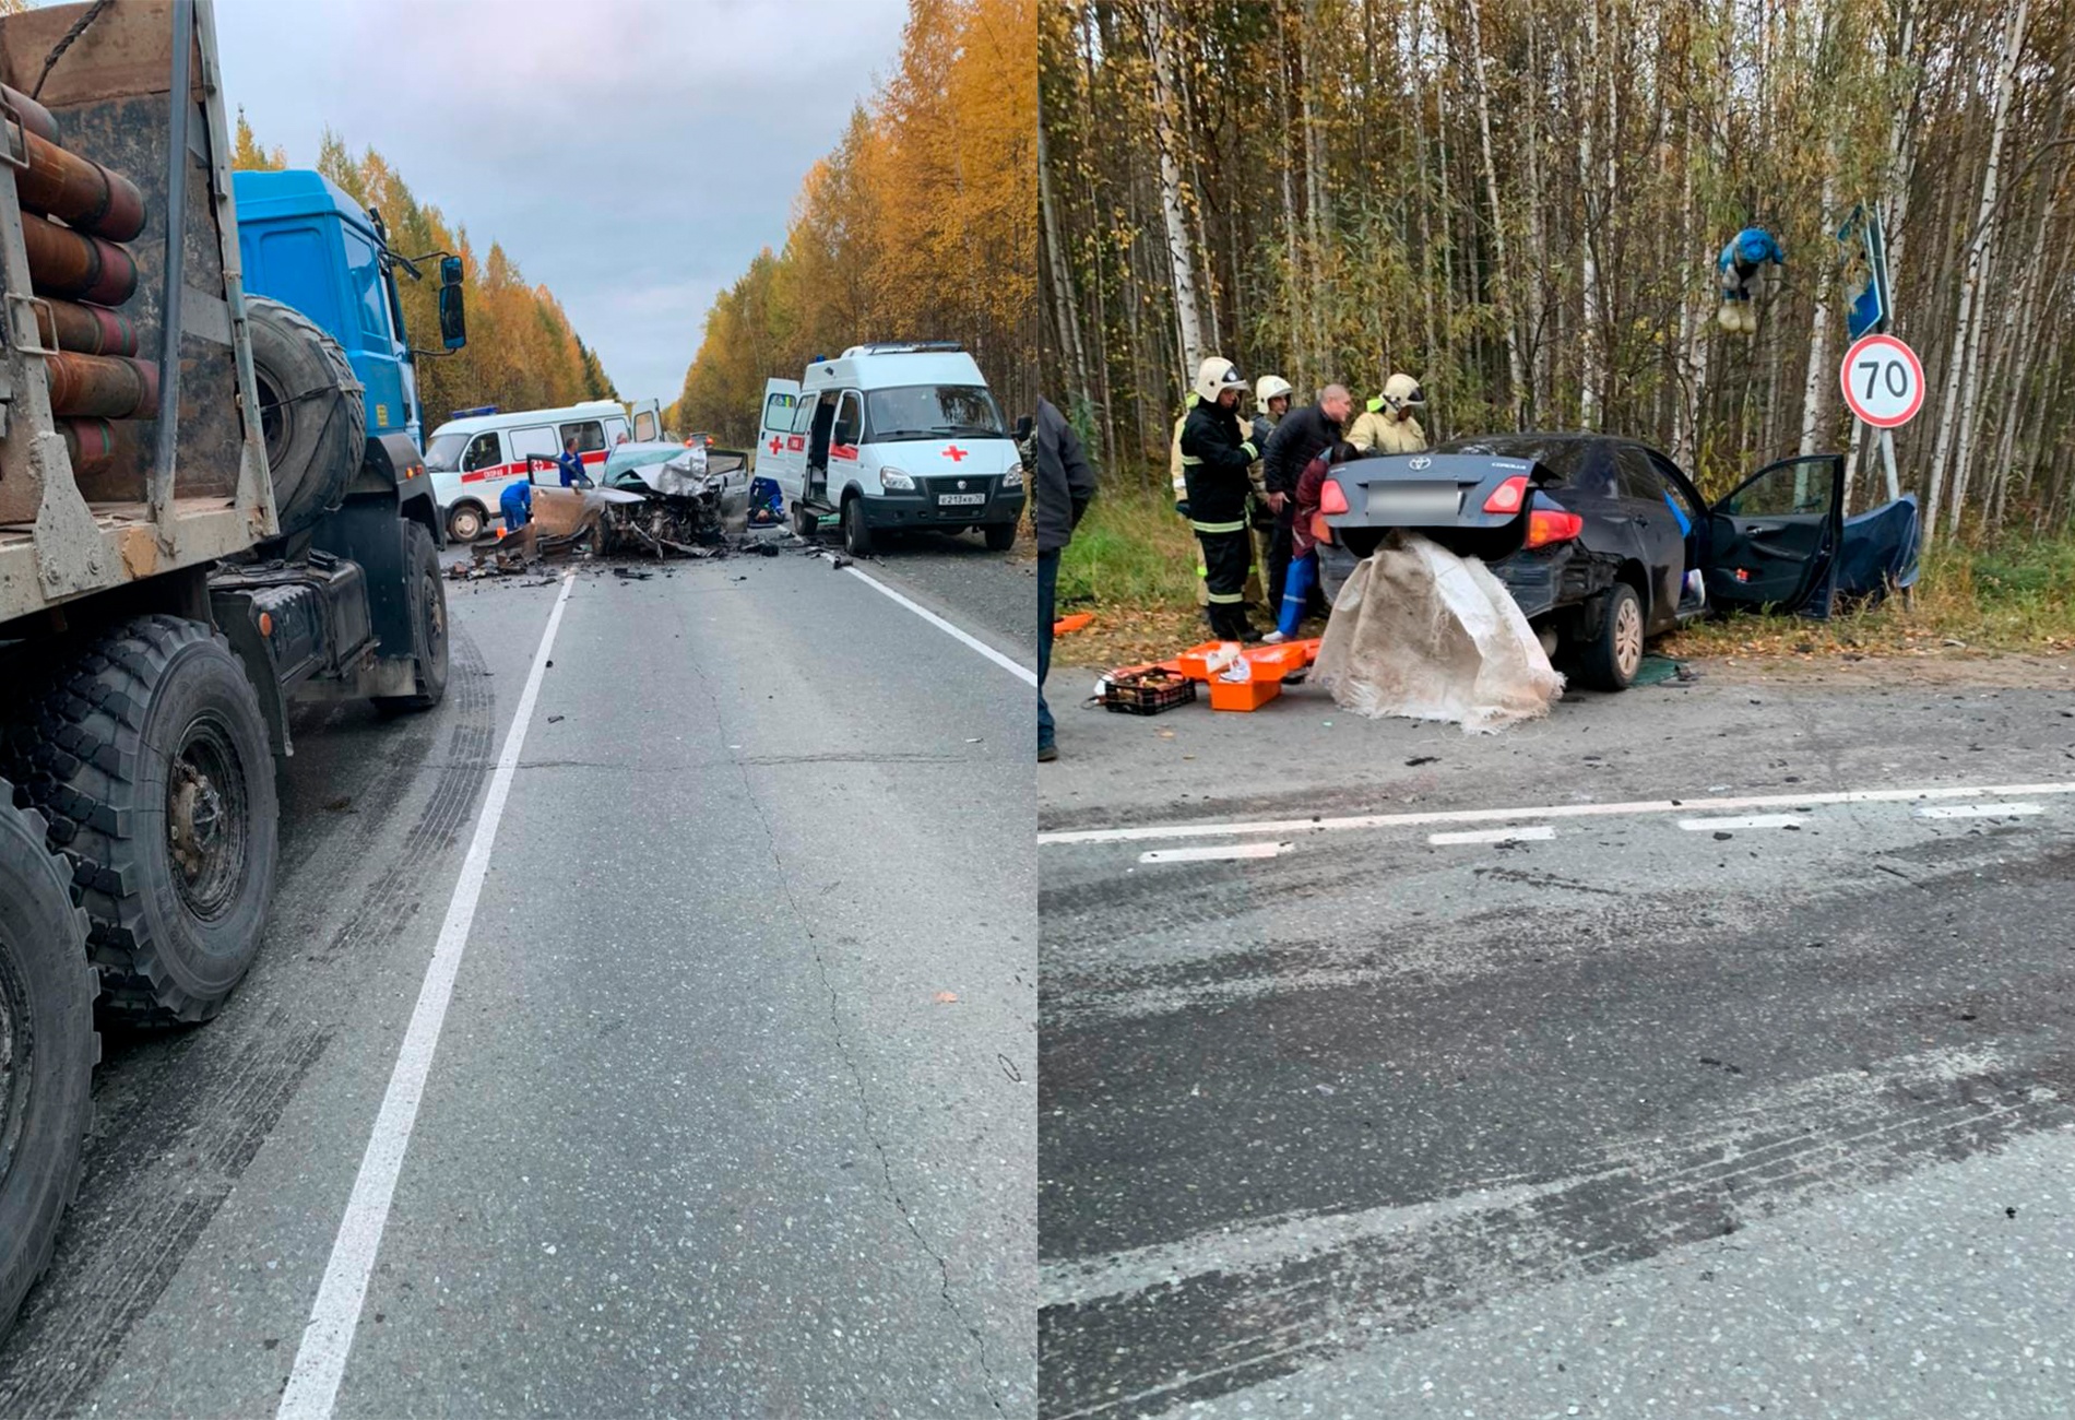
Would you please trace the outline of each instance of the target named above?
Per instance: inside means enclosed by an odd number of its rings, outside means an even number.
[[[1006,552],[1023,515],[1002,409],[950,340],[853,345],[799,380],[766,380],[755,457],[793,531],[834,515],[851,556],[869,554],[874,534],[967,527]]]

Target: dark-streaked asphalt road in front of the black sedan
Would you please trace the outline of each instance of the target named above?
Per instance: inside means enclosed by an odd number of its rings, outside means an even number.
[[[1069,712],[1040,1414],[2069,1414],[2075,677],[1967,679]]]

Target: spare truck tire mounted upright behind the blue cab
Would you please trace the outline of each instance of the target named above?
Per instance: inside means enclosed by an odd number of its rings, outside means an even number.
[[[245,297],[259,386],[259,432],[280,531],[309,531],[338,507],[367,446],[367,399],[347,353],[317,322],[270,297]]]

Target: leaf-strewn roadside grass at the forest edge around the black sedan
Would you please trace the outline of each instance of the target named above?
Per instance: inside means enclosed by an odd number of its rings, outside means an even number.
[[[1094,612],[1052,654],[1116,666],[1172,656],[1208,631],[1195,606],[1195,538],[1166,488],[1106,486],[1060,556],[1058,615]],[[1316,635],[1316,629],[1307,629]],[[1735,615],[1658,646],[1668,656],[1909,658],[2075,652],[2075,538],[2009,538],[1982,548],[1938,542],[1907,600],[1832,615]]]

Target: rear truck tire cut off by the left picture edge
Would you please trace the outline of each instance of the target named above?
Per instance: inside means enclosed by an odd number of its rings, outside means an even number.
[[[44,820],[0,779],[0,1337],[50,1266],[93,1123],[87,913]]]

